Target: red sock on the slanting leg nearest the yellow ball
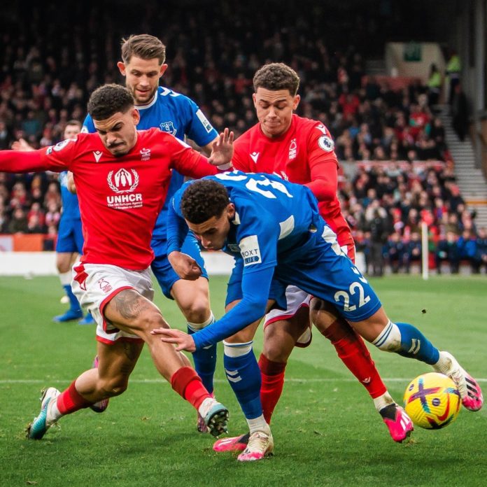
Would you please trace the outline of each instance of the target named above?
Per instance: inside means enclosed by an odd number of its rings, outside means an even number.
[[[334,321],[323,334],[332,342],[341,361],[373,399],[386,393],[386,386],[362,337],[345,320]]]

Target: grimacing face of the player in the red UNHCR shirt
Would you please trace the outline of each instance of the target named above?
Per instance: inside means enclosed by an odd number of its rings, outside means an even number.
[[[93,123],[103,145],[115,157],[120,157],[127,154],[135,146],[137,141],[136,125],[139,120],[139,110],[129,108],[125,113],[114,113],[105,120],[93,119]]]

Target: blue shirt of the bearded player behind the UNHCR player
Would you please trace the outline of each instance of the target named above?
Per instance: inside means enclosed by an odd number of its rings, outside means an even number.
[[[182,141],[188,136],[200,147],[206,146],[218,136],[218,132],[192,99],[167,87],[158,87],[150,104],[136,108],[141,114],[141,120],[137,125],[139,130],[159,127]],[[96,132],[90,115],[87,115],[83,122],[83,132]],[[166,202],[155,223],[153,241],[166,238],[167,206],[183,182],[184,176],[173,169]]]

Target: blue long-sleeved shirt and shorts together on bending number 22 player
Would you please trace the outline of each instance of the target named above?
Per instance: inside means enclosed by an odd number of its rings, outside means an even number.
[[[223,184],[235,206],[223,250],[236,258],[230,281],[241,282],[242,295],[220,320],[192,334],[197,348],[230,337],[261,318],[268,297],[281,306],[289,284],[332,303],[352,322],[379,309],[379,298],[341,250],[309,188],[274,175],[240,171],[205,179]],[[193,182],[176,192],[169,209],[168,253],[180,250],[188,230],[181,198]]]

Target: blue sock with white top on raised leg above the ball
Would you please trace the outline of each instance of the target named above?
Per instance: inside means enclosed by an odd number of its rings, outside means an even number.
[[[399,353],[403,357],[416,358],[428,365],[439,360],[439,351],[418,328],[409,323],[391,323],[373,342],[381,350]]]

